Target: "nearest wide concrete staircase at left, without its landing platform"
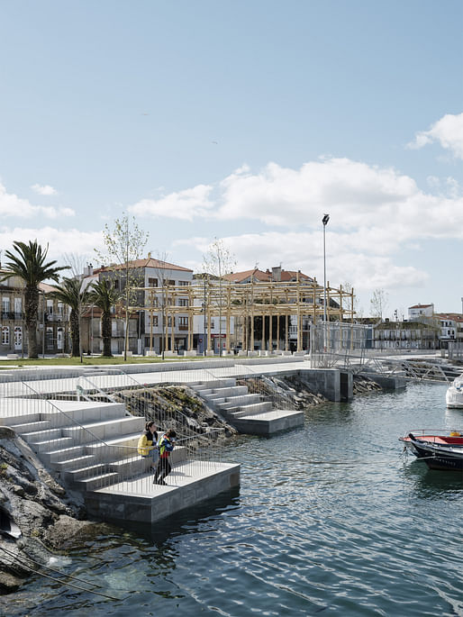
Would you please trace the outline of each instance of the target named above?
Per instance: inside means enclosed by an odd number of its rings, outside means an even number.
[[[145,420],[127,413],[123,404],[20,402],[22,413],[0,418],[0,423],[20,434],[45,467],[55,471],[68,487],[95,491],[149,471],[150,459],[141,458],[136,449]],[[32,413],[27,409],[29,402]],[[178,447],[171,463],[185,458],[186,449]]]

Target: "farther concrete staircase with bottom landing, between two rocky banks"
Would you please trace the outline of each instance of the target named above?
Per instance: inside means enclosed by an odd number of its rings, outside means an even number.
[[[275,409],[271,402],[262,401],[259,394],[250,394],[248,386],[237,386],[234,378],[192,384],[191,387],[242,433],[268,436],[304,424],[303,412]]]

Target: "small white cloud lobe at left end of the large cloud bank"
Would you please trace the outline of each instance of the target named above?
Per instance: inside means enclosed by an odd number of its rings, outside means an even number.
[[[192,221],[195,217],[207,216],[213,208],[213,202],[209,201],[211,191],[212,186],[197,185],[159,199],[142,199],[130,205],[128,210],[139,216],[166,216]]]

